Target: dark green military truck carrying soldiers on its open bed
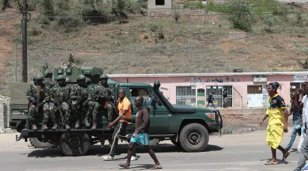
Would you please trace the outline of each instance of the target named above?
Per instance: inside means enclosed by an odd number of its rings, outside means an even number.
[[[187,105],[172,105],[159,90],[159,81],[155,81],[153,86],[145,83],[120,83],[112,79],[109,79],[108,83],[114,85],[116,94],[119,88],[125,89],[128,92],[126,96],[131,101],[135,98],[129,93],[131,90],[138,90],[139,94],[144,96],[144,105],[151,109],[149,134],[152,140],[171,140],[173,144],[180,146],[187,152],[198,152],[206,148],[209,134],[222,129],[222,118],[218,110],[211,111]],[[22,89],[21,86],[19,88]],[[23,96],[19,96],[19,98],[23,98]],[[97,115],[98,124],[95,131],[86,127],[66,131],[63,126],[56,131],[33,131],[29,127],[27,118],[27,106],[25,106],[27,103],[23,105],[13,103],[14,101],[10,105],[11,110],[14,110],[11,111],[10,127],[14,126],[18,132],[21,132],[16,140],[27,141],[29,138],[30,142],[36,140],[37,144],[59,146],[64,155],[77,156],[86,154],[92,144],[98,142],[103,144],[105,140],[110,140],[112,137],[113,130],[107,128],[107,111],[105,109],[101,109]],[[131,117],[134,118],[137,109],[133,105],[132,108]]]

